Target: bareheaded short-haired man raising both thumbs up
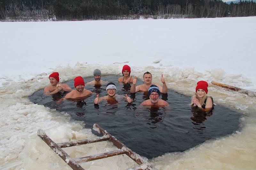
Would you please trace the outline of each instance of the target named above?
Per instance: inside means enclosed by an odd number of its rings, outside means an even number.
[[[149,87],[152,85],[152,74],[149,72],[144,73],[143,80],[144,80],[144,84],[135,86],[137,83],[137,77],[135,76],[135,78],[132,81],[131,93],[136,93],[138,91],[143,91],[143,92],[148,91]],[[167,85],[165,83],[163,74],[161,76],[161,81],[163,83],[163,87],[159,84],[154,84],[154,85],[156,85],[159,88],[161,93],[165,94],[165,93],[167,93]]]

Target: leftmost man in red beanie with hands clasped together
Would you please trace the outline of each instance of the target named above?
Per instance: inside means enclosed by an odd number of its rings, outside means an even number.
[[[72,89],[67,85],[60,83],[60,77],[58,72],[53,72],[49,75],[49,81],[51,85],[44,88],[45,95],[53,95],[59,91],[71,91]]]

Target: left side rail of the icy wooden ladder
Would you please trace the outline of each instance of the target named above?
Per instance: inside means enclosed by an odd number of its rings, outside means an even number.
[[[71,158],[65,151],[63,151],[55,142],[49,138],[42,129],[37,131],[37,135],[54,151],[61,159],[63,159],[72,169],[74,170],[84,170],[74,158]]]

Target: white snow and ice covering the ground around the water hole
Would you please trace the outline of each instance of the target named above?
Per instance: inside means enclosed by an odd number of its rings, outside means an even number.
[[[37,129],[44,129],[56,142],[94,135],[83,128],[83,122],[33,104],[27,97],[48,85],[53,71],[63,82],[92,76],[95,68],[105,75],[121,74],[124,63],[138,78],[149,71],[159,83],[164,74],[169,89],[189,96],[197,81],[208,81],[217,104],[246,115],[240,120],[242,131],[150,160],[156,168],[256,168],[256,98],[210,84],[217,81],[256,90],[256,17],[0,22],[0,35],[1,169],[70,169],[37,137]],[[78,157],[114,149],[107,142],[97,144],[97,149],[91,146],[96,144],[66,152]],[[82,166],[125,169],[134,163],[118,156]]]

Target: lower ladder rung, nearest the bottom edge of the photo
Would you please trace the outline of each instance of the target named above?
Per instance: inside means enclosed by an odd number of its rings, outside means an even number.
[[[125,154],[125,153],[126,153],[125,150],[118,149],[116,151],[110,151],[110,152],[100,153],[100,154],[86,156],[86,157],[82,157],[82,158],[73,158],[73,159],[77,163],[82,163],[82,162],[89,162],[89,161],[97,160],[97,159],[108,158],[108,157],[111,157],[111,156],[121,155],[121,154]]]

